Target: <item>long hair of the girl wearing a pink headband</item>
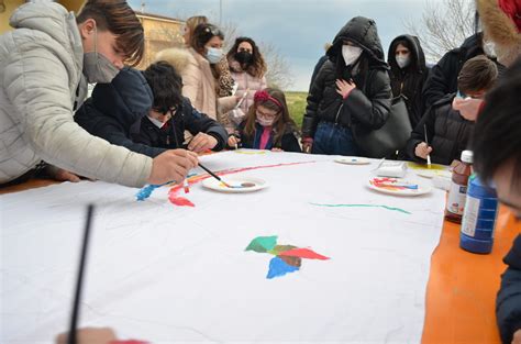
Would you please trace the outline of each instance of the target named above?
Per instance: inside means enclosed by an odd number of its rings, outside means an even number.
[[[246,114],[246,124],[244,125],[244,133],[246,136],[253,137],[255,135],[255,121],[257,119],[257,107],[263,106],[268,110],[277,111],[277,120],[273,125],[273,130],[275,133],[274,136],[274,145],[280,145],[282,135],[289,130],[297,130],[297,124],[295,121],[289,116],[288,104],[286,103],[286,96],[284,92],[276,88],[265,88],[266,91],[270,97],[275,98],[282,107],[279,107],[273,100],[266,99],[262,101],[256,101],[250,107],[250,110]]]

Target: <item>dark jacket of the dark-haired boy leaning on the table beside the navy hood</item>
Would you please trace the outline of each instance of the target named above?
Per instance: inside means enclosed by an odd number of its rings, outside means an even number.
[[[185,130],[193,136],[198,133],[207,133],[218,141],[212,151],[221,151],[228,141],[226,130],[217,121],[204,113],[200,113],[182,97],[182,104],[178,107],[174,116],[162,127],[157,127],[147,116],[143,116],[130,129],[130,137],[133,142],[164,149],[184,148]]]

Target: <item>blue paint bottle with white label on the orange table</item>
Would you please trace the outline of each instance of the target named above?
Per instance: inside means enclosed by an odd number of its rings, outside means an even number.
[[[490,253],[494,245],[497,215],[498,197],[496,190],[483,185],[476,175],[472,175],[463,213],[459,247],[473,253]]]

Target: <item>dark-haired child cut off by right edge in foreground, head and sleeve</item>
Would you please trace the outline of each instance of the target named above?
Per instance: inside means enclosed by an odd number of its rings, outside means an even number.
[[[474,129],[474,168],[521,219],[521,59],[485,99]],[[521,344],[521,235],[505,257],[496,315],[505,344]]]

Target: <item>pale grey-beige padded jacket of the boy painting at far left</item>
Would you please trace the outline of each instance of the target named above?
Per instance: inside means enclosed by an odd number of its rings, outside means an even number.
[[[73,118],[84,49],[74,13],[29,2],[0,36],[0,184],[40,160],[81,176],[141,187],[152,158],[90,135]],[[85,97],[86,92],[82,95]]]

